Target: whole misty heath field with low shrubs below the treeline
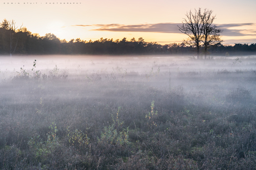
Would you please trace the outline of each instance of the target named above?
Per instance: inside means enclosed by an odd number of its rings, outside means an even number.
[[[0,169],[256,169],[256,56],[0,62]]]

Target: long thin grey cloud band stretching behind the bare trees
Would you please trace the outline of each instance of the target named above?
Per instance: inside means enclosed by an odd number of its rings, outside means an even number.
[[[255,30],[249,29],[232,29],[233,27],[253,26],[254,23],[239,24],[216,24],[218,29],[223,30],[221,35],[224,36],[246,36],[255,35]],[[182,23],[157,23],[157,24],[92,24],[92,25],[72,25],[76,27],[96,27],[91,30],[110,31],[110,32],[152,32],[152,33],[181,33],[179,27]],[[179,27],[178,27],[179,26]],[[248,32],[248,33],[244,33]]]

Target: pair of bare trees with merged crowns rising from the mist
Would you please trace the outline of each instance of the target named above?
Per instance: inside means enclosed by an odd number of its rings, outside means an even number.
[[[220,29],[216,29],[216,25],[213,25],[215,16],[211,16],[213,11],[204,9],[204,12],[201,12],[201,8],[193,14],[191,10],[186,13],[186,18],[183,18],[183,25],[179,27],[181,33],[184,33],[189,36],[185,40],[186,44],[194,45],[196,47],[197,59],[199,59],[199,50],[200,45],[204,45],[204,54],[205,58],[207,55],[207,50],[209,45],[222,42],[220,40]]]

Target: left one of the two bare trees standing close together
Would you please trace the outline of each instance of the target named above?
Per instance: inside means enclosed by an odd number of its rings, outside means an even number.
[[[187,19],[186,19],[187,18]],[[185,40],[186,44],[195,45],[197,59],[199,59],[200,42],[203,38],[203,20],[201,20],[201,8],[193,14],[191,10],[186,13],[186,18],[183,18],[183,25],[179,27],[181,33],[189,36]]]

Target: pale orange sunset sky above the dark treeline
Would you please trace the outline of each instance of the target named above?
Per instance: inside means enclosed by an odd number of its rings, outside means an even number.
[[[209,9],[223,30],[223,44],[256,43],[255,0],[0,0],[0,7],[0,20],[14,20],[40,36],[52,33],[67,41],[142,37],[163,45],[187,38],[177,26],[186,12]]]

